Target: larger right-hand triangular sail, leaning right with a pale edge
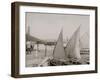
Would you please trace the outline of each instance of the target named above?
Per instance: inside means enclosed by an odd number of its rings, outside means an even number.
[[[66,59],[71,61],[79,61],[81,59],[80,56],[80,35],[79,35],[80,27],[74,32],[70,40],[68,41],[65,52]]]

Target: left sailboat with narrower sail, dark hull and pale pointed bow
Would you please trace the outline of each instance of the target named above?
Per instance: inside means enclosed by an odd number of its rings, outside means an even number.
[[[65,56],[65,50],[63,46],[63,30],[61,30],[57,43],[55,45],[55,48],[53,50],[53,56],[52,57],[45,57],[45,59],[39,64],[39,66],[45,66],[45,65],[61,65],[62,61],[66,59]]]

